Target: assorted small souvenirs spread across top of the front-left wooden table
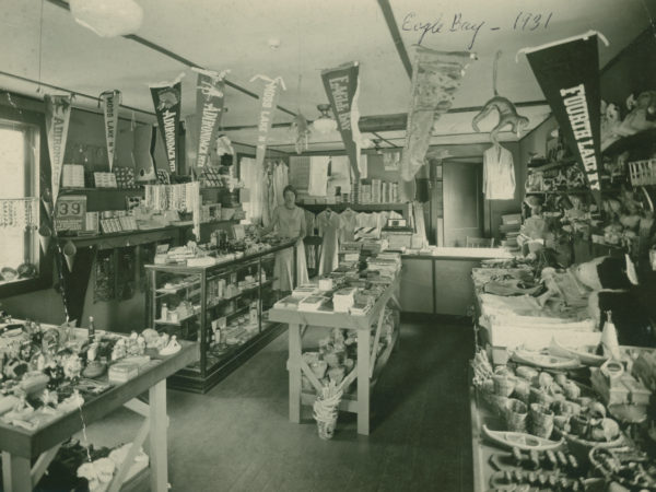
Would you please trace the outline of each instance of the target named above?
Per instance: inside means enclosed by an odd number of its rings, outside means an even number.
[[[3,316],[0,420],[35,431],[179,350],[175,337],[152,329],[124,336]]]

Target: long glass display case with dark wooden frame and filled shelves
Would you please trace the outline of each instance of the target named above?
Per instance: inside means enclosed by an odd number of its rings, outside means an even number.
[[[293,242],[207,267],[145,267],[148,326],[200,342],[199,361],[169,377],[169,387],[208,391],[282,330],[268,311],[280,298],[276,255],[286,248]]]

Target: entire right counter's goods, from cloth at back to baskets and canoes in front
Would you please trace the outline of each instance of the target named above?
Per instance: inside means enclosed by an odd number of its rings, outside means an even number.
[[[655,331],[631,260],[472,270],[491,489],[656,490]],[[653,300],[653,297],[651,297]],[[622,488],[606,489],[607,484]]]

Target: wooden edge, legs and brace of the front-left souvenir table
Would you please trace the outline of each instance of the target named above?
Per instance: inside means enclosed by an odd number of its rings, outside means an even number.
[[[107,391],[90,397],[84,401],[81,412],[84,424],[101,420],[120,406],[140,413],[145,418],[137,432],[132,447],[126,460],[117,469],[108,488],[119,490],[124,477],[141,445],[149,438],[151,490],[168,490],[168,466],[166,452],[166,378],[187,364],[198,360],[198,343],[179,342],[183,348],[174,355],[156,359],[140,370],[137,377],[118,384]],[[155,361],[155,359],[153,359]],[[149,403],[137,399],[149,391]],[[61,444],[78,431],[83,422],[80,411],[67,413],[35,431],[0,422],[0,448],[2,449],[3,490],[23,492],[32,490],[57,455]],[[38,458],[37,458],[38,457]],[[32,465],[32,458],[37,458]]]

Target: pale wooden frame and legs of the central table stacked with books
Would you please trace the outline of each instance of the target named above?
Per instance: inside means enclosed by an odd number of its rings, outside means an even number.
[[[301,387],[301,375],[304,374],[320,390],[321,383],[303,360],[302,337],[306,327],[345,328],[358,330],[358,363],[347,375],[343,387],[348,387],[355,378],[358,379],[356,398],[349,394],[342,396],[340,410],[358,413],[358,433],[368,435],[370,433],[370,396],[373,384],[378,374],[387,363],[391,350],[398,341],[399,330],[395,330],[391,343],[376,356],[376,348],[380,337],[380,328],[385,315],[385,306],[393,301],[397,307],[399,303],[395,292],[400,283],[400,272],[378,297],[376,304],[366,315],[354,316],[348,313],[329,312],[297,312],[293,309],[272,308],[269,311],[269,319],[289,325],[290,355],[288,371],[290,373],[290,421],[301,422],[301,405],[312,405],[316,398],[314,393],[303,393]],[[370,352],[371,327],[376,324],[373,350]]]

